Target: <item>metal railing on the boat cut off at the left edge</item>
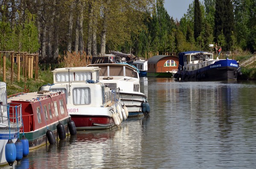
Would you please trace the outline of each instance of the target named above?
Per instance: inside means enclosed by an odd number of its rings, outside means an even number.
[[[9,103],[8,105],[0,105],[6,109],[7,113],[1,112],[0,123],[9,125],[11,128],[22,126],[22,108],[20,103]]]

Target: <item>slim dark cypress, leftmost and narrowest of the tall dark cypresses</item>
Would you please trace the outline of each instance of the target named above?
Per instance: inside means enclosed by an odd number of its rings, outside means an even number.
[[[202,15],[200,9],[199,0],[195,0],[195,8],[194,8],[194,38],[197,41],[198,36],[202,31]]]

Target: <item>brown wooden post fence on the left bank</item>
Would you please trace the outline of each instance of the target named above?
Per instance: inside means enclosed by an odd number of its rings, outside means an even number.
[[[11,61],[10,80],[13,84],[14,80],[14,64],[17,64],[17,81],[20,81],[20,70],[25,78],[33,78],[33,71],[35,70],[35,80],[38,79],[38,54],[28,54],[27,52],[9,52],[0,51],[0,57],[3,57],[3,81],[6,82],[6,58]],[[1,66],[0,66],[1,69]]]

